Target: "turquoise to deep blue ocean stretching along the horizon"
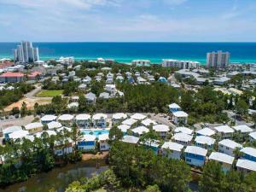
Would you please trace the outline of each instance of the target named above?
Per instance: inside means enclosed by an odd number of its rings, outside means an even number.
[[[0,58],[13,58],[12,50],[20,43],[0,43]],[[256,62],[256,43],[33,43],[39,48],[40,60],[74,56],[76,60],[98,57],[131,63],[147,59],[160,63],[162,59],[200,61],[206,63],[207,52],[230,52],[232,62]]]

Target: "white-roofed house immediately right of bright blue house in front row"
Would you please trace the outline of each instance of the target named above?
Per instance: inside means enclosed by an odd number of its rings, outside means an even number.
[[[209,160],[217,161],[221,165],[222,171],[228,172],[230,171],[235,158],[228,154],[212,152],[212,154],[209,156]]]

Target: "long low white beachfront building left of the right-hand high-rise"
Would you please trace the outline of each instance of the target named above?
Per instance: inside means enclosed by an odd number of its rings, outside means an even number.
[[[177,67],[178,69],[198,68],[200,62],[197,61],[178,61],[166,59],[162,61],[162,67]]]

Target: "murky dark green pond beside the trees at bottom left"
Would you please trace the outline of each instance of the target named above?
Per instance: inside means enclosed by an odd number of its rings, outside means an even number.
[[[96,168],[96,163],[100,165],[98,168]],[[103,160],[81,161],[77,164],[55,168],[51,172],[40,173],[26,182],[15,183],[5,189],[0,189],[0,192],[48,192],[51,188],[63,192],[69,183],[79,180],[81,177],[92,177],[106,169],[108,166]]]

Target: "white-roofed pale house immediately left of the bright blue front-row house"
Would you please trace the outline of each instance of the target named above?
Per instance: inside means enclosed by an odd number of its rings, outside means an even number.
[[[173,142],[165,142],[162,147],[162,154],[174,160],[180,160],[183,145]]]

